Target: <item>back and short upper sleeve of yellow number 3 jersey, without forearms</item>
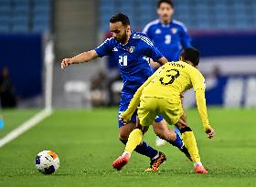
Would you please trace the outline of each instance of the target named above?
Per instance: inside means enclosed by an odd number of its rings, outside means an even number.
[[[205,90],[203,75],[183,61],[166,63],[157,69],[151,79],[143,90],[143,97],[180,99],[180,94],[192,87]]]

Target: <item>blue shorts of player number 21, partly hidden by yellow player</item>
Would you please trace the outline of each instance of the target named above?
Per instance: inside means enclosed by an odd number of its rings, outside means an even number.
[[[118,127],[119,128],[123,127],[123,122],[119,119],[119,117],[123,113],[123,111],[125,111],[125,109],[128,108],[130,101],[131,101],[131,99],[121,99],[121,103],[119,105],[119,111],[118,111]],[[135,123],[136,122],[136,116],[137,116],[137,112],[135,111],[133,113],[132,119],[129,122]],[[158,115],[155,118],[155,122],[158,123],[163,119],[164,118],[162,116]]]

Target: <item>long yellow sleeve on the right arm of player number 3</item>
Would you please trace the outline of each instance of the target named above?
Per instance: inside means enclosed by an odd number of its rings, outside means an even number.
[[[204,130],[206,131],[210,128],[210,125],[208,122],[208,111],[205,98],[205,78],[202,74],[195,72],[191,74],[191,81],[196,92],[197,109],[202,120]]]

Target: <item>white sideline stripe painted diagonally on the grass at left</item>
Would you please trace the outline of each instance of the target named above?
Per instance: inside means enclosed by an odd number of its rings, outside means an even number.
[[[10,142],[11,140],[15,140],[18,136],[20,136],[27,130],[36,126],[40,121],[42,121],[43,119],[46,119],[48,116],[50,116],[51,113],[52,113],[51,109],[43,109],[40,112],[38,112],[31,119],[28,119],[27,121],[22,123],[20,126],[18,126],[15,130],[6,134],[4,138],[0,139],[0,148],[3,147],[8,142]]]

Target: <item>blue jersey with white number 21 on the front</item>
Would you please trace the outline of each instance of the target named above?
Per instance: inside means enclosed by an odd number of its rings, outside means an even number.
[[[149,78],[152,71],[148,57],[157,61],[163,55],[144,33],[132,32],[128,43],[122,45],[113,37],[95,49],[99,57],[112,56],[123,78],[122,98],[133,98],[136,90]]]

